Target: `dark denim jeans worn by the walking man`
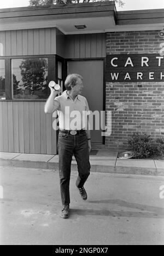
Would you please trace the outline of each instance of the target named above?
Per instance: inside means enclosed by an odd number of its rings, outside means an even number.
[[[90,175],[89,147],[85,130],[77,135],[63,132],[58,134],[59,177],[62,204],[70,203],[69,180],[72,156],[78,164],[77,187],[83,187]]]

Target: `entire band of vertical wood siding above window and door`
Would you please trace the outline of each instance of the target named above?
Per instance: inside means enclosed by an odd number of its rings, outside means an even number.
[[[0,56],[57,54],[63,58],[106,57],[104,33],[67,35],[56,28],[0,31]]]

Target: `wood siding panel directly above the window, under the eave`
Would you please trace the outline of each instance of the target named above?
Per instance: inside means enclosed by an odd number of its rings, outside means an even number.
[[[0,32],[0,56],[56,54],[56,28]]]

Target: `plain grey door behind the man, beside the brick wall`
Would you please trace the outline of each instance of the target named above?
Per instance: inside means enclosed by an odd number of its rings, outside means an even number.
[[[68,61],[68,74],[78,73],[83,76],[83,93],[89,104],[91,111],[103,111],[103,60],[81,60]],[[95,121],[95,118],[93,118]],[[91,131],[92,143],[103,142],[101,128],[99,122],[99,130],[95,129],[93,122],[93,130]]]

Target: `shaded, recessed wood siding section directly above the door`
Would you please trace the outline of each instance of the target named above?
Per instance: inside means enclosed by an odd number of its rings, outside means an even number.
[[[66,36],[65,55],[68,59],[106,57],[104,33]]]

